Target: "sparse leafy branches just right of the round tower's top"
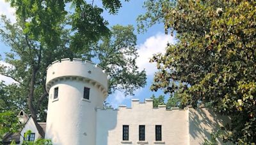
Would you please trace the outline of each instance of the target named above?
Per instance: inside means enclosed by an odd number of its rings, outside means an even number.
[[[122,90],[132,95],[134,90],[146,84],[145,71],[138,71],[136,36],[131,25],[115,25],[111,37],[105,37],[94,48],[95,56],[109,75],[109,93]]]

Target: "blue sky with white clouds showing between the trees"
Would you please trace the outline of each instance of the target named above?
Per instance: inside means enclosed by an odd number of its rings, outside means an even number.
[[[99,1],[98,1],[99,2]],[[145,13],[143,9],[143,2],[142,0],[131,0],[128,3],[124,2],[123,7],[120,8],[118,11],[118,15],[109,15],[107,11],[104,11],[103,17],[108,20],[109,27],[112,25],[133,25],[136,30],[136,18],[138,15]],[[0,15],[4,14],[7,15],[12,21],[15,20],[13,14],[15,10],[10,8],[9,4],[4,3],[4,0],[0,0]],[[149,58],[152,57],[154,53],[164,53],[166,43],[175,43],[175,39],[171,36],[166,36],[164,34],[164,27],[163,24],[157,24],[153,27],[149,28],[147,32],[144,34],[137,35],[137,47],[138,47],[138,54],[140,57],[137,60],[138,67],[140,70],[145,69],[147,71],[147,85],[144,88],[136,90],[134,96],[124,96],[122,92],[115,92],[113,95],[109,95],[107,101],[112,104],[113,107],[118,107],[118,105],[127,105],[131,106],[131,99],[140,99],[141,102],[145,98],[149,98],[153,93],[158,96],[163,94],[161,90],[158,92],[151,92],[149,90],[150,85],[152,84],[152,80],[154,78],[154,72],[157,71],[156,64],[150,64]],[[4,52],[8,52],[10,48],[2,41],[0,41],[0,54],[4,58]],[[8,65],[3,61],[0,62],[1,64]],[[12,79],[5,78],[1,76],[0,79],[3,79],[7,83],[11,83]]]

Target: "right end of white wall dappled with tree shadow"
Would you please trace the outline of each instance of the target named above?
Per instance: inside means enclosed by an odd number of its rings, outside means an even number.
[[[228,116],[216,114],[207,108],[189,108],[189,142],[204,144],[204,139],[211,139],[211,134],[230,122]],[[222,144],[221,139],[218,139]]]

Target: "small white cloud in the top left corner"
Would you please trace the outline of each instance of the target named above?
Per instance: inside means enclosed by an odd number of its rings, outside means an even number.
[[[4,0],[0,0],[0,15],[6,15],[11,22],[16,22],[15,8],[11,8],[10,3],[6,3]]]

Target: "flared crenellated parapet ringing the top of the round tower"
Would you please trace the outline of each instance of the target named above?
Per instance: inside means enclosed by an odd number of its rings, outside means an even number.
[[[82,59],[61,59],[52,62],[47,67],[47,92],[54,83],[70,80],[90,83],[104,93],[104,97],[108,96],[108,74],[93,62]]]

